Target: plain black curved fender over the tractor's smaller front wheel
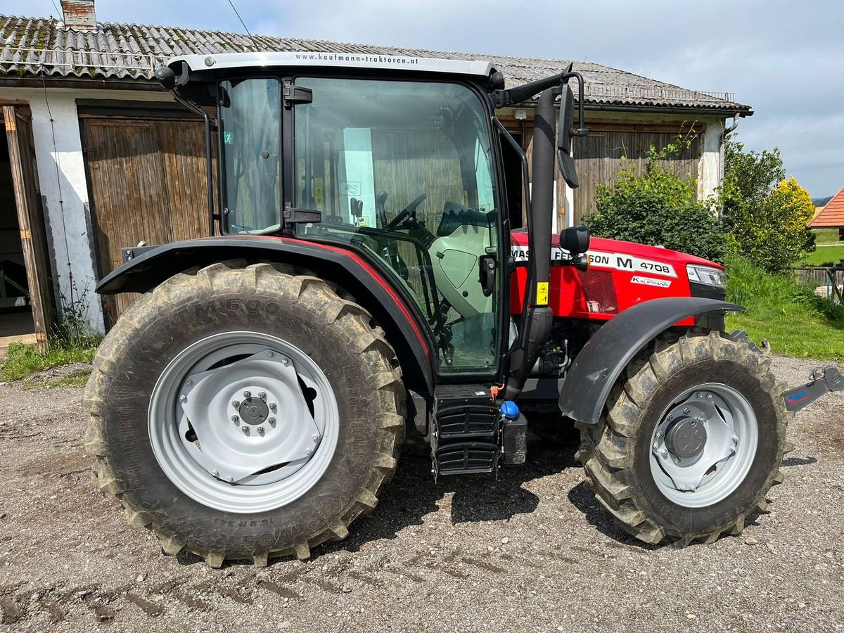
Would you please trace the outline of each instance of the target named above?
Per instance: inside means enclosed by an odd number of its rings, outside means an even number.
[[[560,411],[576,421],[597,424],[610,389],[645,345],[674,323],[711,311],[744,311],[744,307],[702,297],[667,297],[621,312],[577,354],[560,389]]]

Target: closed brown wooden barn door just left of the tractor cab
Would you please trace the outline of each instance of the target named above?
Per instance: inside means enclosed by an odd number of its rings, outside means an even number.
[[[82,117],[91,214],[100,274],[122,263],[121,249],[208,235],[201,122]],[[137,299],[106,298],[111,322]]]

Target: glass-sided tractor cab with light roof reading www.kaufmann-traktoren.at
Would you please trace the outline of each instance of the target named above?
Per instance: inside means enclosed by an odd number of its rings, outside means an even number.
[[[517,335],[501,273],[506,184],[519,196],[527,185],[498,167],[515,143],[495,107],[514,98],[491,64],[224,54],[177,58],[157,76],[216,123],[212,231],[359,252],[425,324],[438,374],[503,379]]]

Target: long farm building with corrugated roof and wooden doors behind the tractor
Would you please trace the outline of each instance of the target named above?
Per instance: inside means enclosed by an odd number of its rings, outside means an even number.
[[[122,246],[207,235],[203,124],[152,79],[169,57],[257,49],[484,59],[508,86],[569,63],[103,24],[93,0],[67,0],[62,9],[62,20],[0,16],[0,262],[24,271],[28,283],[19,277],[19,285],[28,291],[10,293],[29,295],[18,303],[32,308],[41,338],[57,306],[83,306],[100,332],[113,322],[121,306],[93,289],[121,263]],[[674,159],[677,169],[695,178],[701,199],[715,192],[725,129],[752,114],[749,106],[728,93],[598,63],[575,62],[574,69],[586,79],[591,133],[573,149],[581,187],[572,191],[557,179],[556,229],[592,208],[596,186],[619,173],[622,155],[643,165],[649,146],[661,148],[679,133],[692,142]],[[499,115],[529,154],[531,104]]]

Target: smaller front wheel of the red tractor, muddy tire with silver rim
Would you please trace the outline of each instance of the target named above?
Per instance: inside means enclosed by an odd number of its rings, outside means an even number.
[[[740,533],[782,483],[792,448],[793,414],[770,365],[740,336],[695,329],[657,338],[619,378],[598,424],[578,424],[587,488],[647,544]]]

